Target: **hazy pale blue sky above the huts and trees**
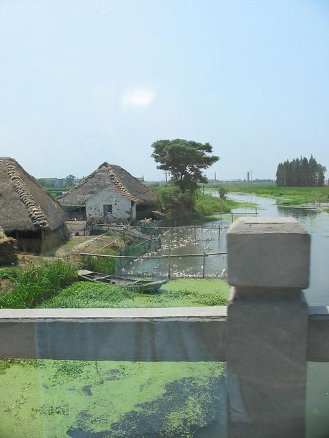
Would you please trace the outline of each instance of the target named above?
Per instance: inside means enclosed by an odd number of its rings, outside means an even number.
[[[209,177],[329,168],[329,1],[0,0],[0,156],[162,179],[162,138],[210,142]]]

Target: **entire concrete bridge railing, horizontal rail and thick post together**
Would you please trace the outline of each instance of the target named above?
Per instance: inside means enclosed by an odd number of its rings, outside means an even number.
[[[305,436],[307,361],[329,361],[328,307],[308,307],[310,235],[294,219],[228,232],[228,307],[2,309],[0,357],[226,361],[228,436]]]

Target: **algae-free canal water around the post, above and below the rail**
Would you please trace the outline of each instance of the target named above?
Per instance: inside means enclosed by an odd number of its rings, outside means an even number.
[[[230,198],[236,201],[257,203],[260,217],[287,217],[291,216],[299,220],[311,234],[310,256],[310,286],[304,292],[309,305],[329,305],[329,214],[315,211],[310,208],[280,207],[272,198],[256,198],[250,194],[230,193]],[[233,210],[234,219],[252,210]],[[223,216],[223,227],[229,227],[231,218]],[[218,226],[220,220],[207,222],[205,227],[217,227],[217,229],[197,229],[195,240],[194,230],[176,229],[160,233],[162,250],[159,253],[168,253],[168,241],[171,240],[171,254],[195,254],[226,252],[227,229]],[[202,257],[175,257],[171,263],[171,275],[175,276],[201,276]],[[226,256],[212,256],[206,258],[206,276],[222,276],[226,270]],[[130,265],[130,274],[153,274],[159,278],[168,274],[167,259],[149,261],[136,261]],[[307,437],[329,437],[329,363],[308,363],[308,387],[307,387]],[[207,433],[210,433],[208,430]],[[211,433],[210,433],[211,435]],[[208,436],[210,436],[208,435]],[[215,436],[215,435],[214,435]]]

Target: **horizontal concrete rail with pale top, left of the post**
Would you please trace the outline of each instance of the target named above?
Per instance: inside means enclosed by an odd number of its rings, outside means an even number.
[[[1,309],[0,357],[224,361],[226,307]]]

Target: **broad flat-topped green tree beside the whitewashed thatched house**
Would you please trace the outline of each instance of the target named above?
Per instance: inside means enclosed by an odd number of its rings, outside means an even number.
[[[176,138],[175,140],[158,140],[152,145],[153,157],[158,169],[169,172],[171,181],[180,187],[184,194],[193,194],[198,183],[208,180],[203,170],[219,160],[212,153],[210,143],[198,143]]]

